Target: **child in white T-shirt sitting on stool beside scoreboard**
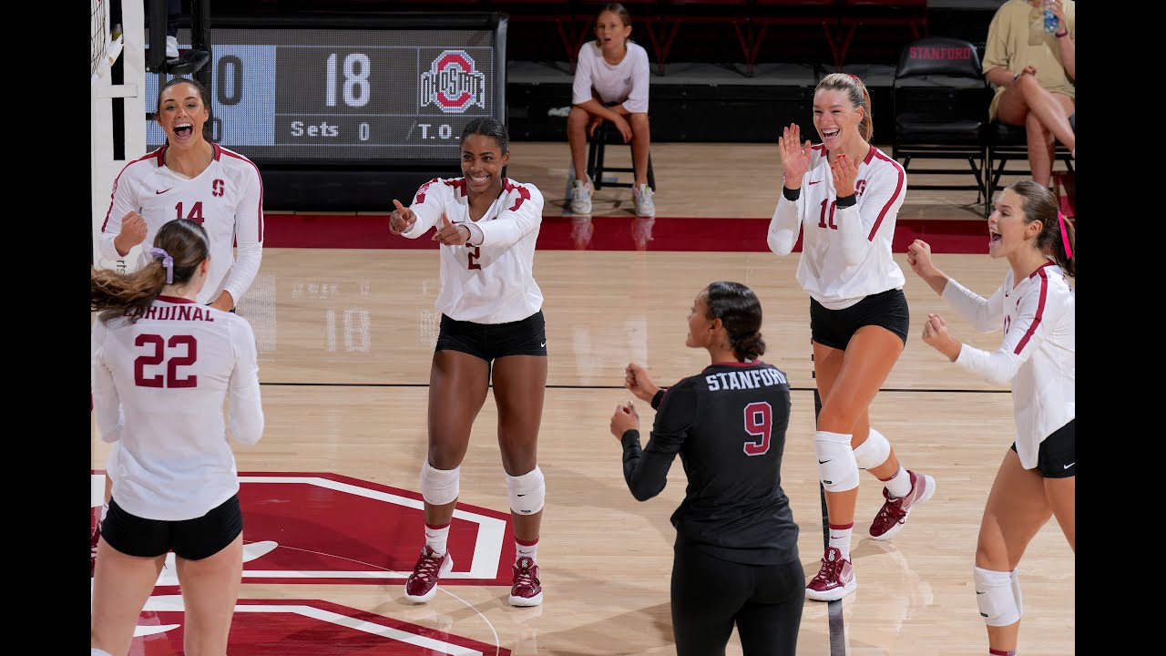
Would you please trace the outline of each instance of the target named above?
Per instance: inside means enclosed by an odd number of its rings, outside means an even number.
[[[571,112],[567,116],[567,142],[571,147],[575,181],[571,183],[571,212],[591,214],[592,180],[586,174],[588,134],[605,120],[619,131],[624,142],[632,142],[632,169],[635,216],[655,216],[648,187],[648,153],[652,133],[648,125],[648,53],[633,43],[632,16],[619,2],[599,9],[595,41],[580,49],[571,82]]]

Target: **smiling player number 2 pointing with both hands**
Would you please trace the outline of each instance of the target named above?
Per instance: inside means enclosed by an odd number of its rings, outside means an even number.
[[[447,549],[462,460],[491,376],[498,444],[517,546],[510,602],[542,603],[539,528],[546,486],[539,469],[539,425],[547,386],[547,329],[534,281],[542,194],[501,176],[510,162],[506,126],[471,120],[462,131],[463,177],[431,180],[409,207],[393,201],[393,235],[415,239],[434,228],[441,242],[441,332],[429,378],[429,455],[421,467],[426,544],[405,596],[426,602],[454,567]]]

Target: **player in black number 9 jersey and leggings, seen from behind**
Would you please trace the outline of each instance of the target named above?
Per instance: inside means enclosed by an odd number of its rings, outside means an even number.
[[[724,654],[733,624],[745,656],[792,655],[805,592],[798,524],[781,490],[789,425],[789,384],[765,353],[761,303],[739,282],[712,282],[696,295],[684,346],[711,364],[663,390],[639,364],[625,385],[656,409],[640,448],[640,419],[623,404],[611,432],[624,445],[632,496],[660,494],[680,454],[688,490],[672,515],[672,627],[676,654]]]

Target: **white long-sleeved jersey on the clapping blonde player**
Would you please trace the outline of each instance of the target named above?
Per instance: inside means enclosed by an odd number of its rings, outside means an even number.
[[[798,201],[778,200],[770,221],[770,250],[793,252],[802,233],[798,282],[828,309],[850,307],[863,298],[901,289],[902,270],[891,256],[895,218],[907,195],[907,174],[874,146],[858,165],[858,202],[837,207],[830,162],[821,144],[810,151]]]

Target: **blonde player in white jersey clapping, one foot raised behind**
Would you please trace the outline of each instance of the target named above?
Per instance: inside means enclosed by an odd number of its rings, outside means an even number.
[[[909,329],[902,272],[891,257],[907,176],[871,146],[870,95],[857,77],[830,74],[817,83],[814,127],[819,146],[801,144],[796,124],[778,140],[785,173],[768,244],[786,256],[802,235],[798,282],[810,296],[814,377],[822,398],[814,453],[829,515],[829,545],[806,595],[834,601],[857,586],[850,536],[858,470],[885,486],[885,503],[869,530],[873,539],[899,532],[908,514],[935,493],[935,480],[905,469],[891,442],[870,425],[870,404]]]

